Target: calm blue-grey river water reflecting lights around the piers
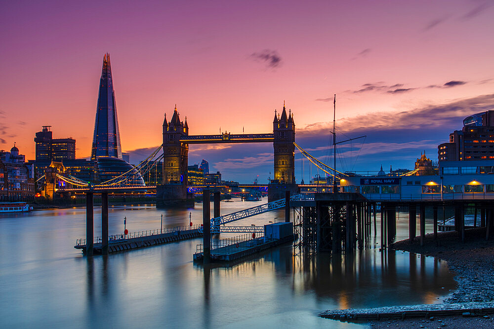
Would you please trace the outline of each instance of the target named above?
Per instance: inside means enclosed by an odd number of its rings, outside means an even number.
[[[222,202],[221,213],[264,202]],[[161,214],[164,227],[188,225],[190,212],[192,222],[201,223],[200,203],[190,210],[115,206],[109,230],[121,233],[124,217],[130,232],[159,228]],[[263,225],[276,217],[284,219],[284,211],[235,225]],[[100,219],[95,209],[95,236],[101,236]],[[397,227],[397,239],[408,237],[407,214],[400,214]],[[1,327],[353,328],[361,325],[316,314],[434,303],[455,286],[446,262],[380,253],[373,242],[376,248],[355,255],[315,258],[293,256],[285,245],[230,267],[204,269],[192,262],[201,239],[86,258],[74,249],[82,237],[84,208],[0,215]]]

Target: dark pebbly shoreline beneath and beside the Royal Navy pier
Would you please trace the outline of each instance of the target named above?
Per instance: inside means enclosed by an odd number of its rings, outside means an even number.
[[[465,231],[462,243],[455,231],[427,234],[424,246],[420,239],[398,241],[390,249],[408,251],[441,258],[448,262],[458,283],[456,290],[445,303],[468,303],[494,301],[494,240],[486,241],[486,228]],[[371,328],[493,328],[494,317],[441,317],[435,319],[405,319],[393,321],[371,321]]]

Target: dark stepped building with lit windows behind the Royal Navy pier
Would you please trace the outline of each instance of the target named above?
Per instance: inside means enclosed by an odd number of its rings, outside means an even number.
[[[463,120],[463,128],[450,134],[450,142],[438,146],[439,161],[494,159],[494,110]]]

